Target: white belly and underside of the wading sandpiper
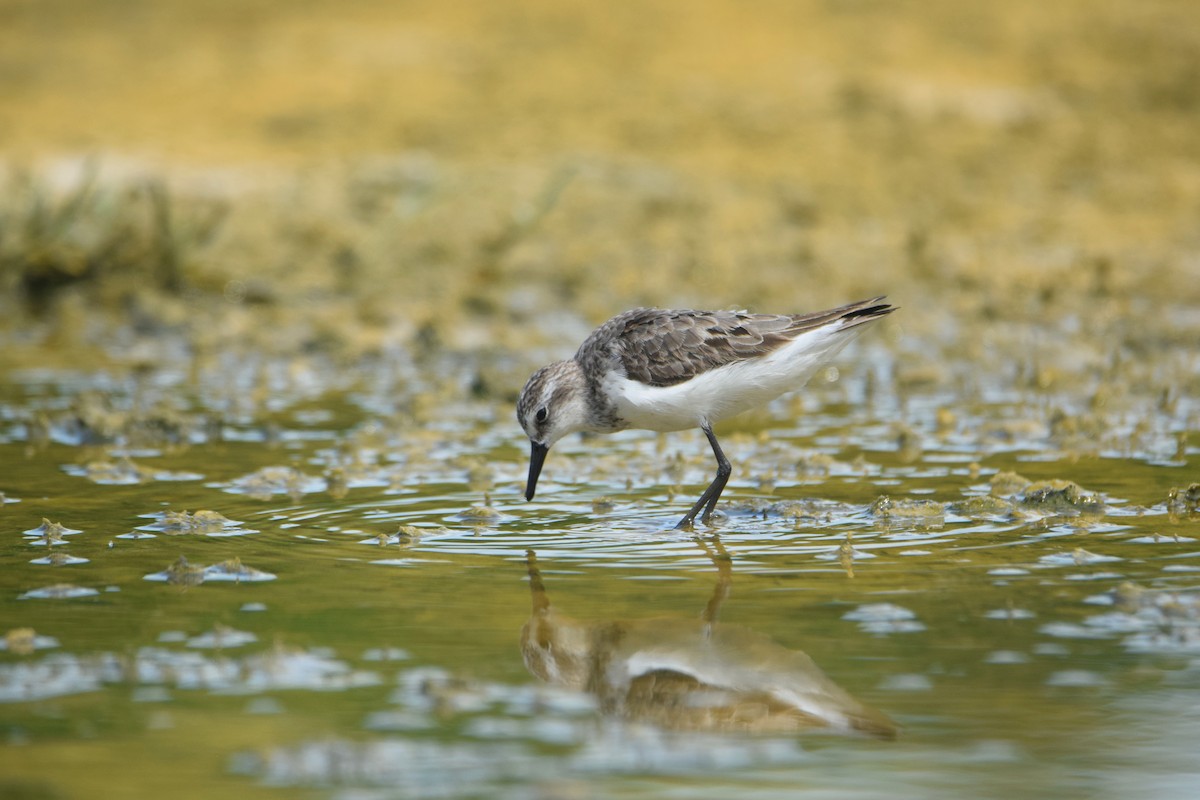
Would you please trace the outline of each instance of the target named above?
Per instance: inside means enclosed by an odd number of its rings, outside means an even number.
[[[613,373],[605,390],[630,428],[683,431],[715,425],[800,389],[859,330],[810,331],[769,355],[718,367],[674,386],[650,386]]]

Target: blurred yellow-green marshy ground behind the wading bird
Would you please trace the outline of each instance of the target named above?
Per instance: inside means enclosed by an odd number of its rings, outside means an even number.
[[[0,166],[8,363],[882,293],[913,380],[1200,336],[1188,0],[0,0]]]

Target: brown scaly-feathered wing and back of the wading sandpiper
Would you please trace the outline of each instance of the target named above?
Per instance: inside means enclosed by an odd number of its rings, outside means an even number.
[[[598,327],[575,357],[596,372],[619,366],[632,379],[672,386],[736,361],[766,355],[800,333],[832,324],[848,327],[893,311],[874,297],[811,314],[635,308]]]

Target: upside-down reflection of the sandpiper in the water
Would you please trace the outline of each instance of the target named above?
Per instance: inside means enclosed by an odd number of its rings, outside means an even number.
[[[804,652],[719,624],[731,559],[720,541],[700,545],[718,578],[697,620],[564,616],[550,604],[536,554],[526,551],[533,595],[533,613],[521,630],[526,667],[551,684],[590,692],[607,715],[664,728],[895,738],[892,720],[851,697]]]

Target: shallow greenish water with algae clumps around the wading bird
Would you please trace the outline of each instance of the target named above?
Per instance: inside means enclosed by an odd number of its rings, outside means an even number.
[[[671,527],[710,476],[700,435],[564,441],[526,504],[524,441],[455,389],[469,369],[10,373],[2,787],[1192,796],[1194,409],[1064,447],[1044,397],[899,397],[883,357],[722,433],[734,476],[695,535]],[[1050,479],[1078,486],[1027,485]],[[180,516],[200,510],[223,518]],[[554,618],[552,655],[590,681],[524,664],[529,551],[581,620]],[[760,694],[714,722],[712,691],[664,705],[665,673],[662,694],[611,688],[654,648],[757,670]],[[794,651],[874,727],[764,711],[823,680]]]

